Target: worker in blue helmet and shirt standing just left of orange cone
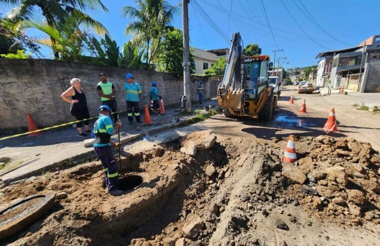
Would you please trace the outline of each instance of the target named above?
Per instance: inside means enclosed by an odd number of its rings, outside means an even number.
[[[133,114],[132,109],[134,111],[134,115],[136,118],[136,121],[141,123],[140,120],[140,108],[138,105],[139,97],[141,96],[141,86],[140,84],[136,83],[134,81],[134,77],[132,73],[128,73],[126,75],[126,79],[128,80],[127,83],[124,85],[125,89],[125,100],[127,101],[127,111],[128,111],[128,121],[129,124],[133,123]]]

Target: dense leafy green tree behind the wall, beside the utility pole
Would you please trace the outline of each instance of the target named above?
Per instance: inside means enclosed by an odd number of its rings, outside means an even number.
[[[191,50],[190,50],[191,51]],[[191,66],[190,73],[195,69],[193,55],[190,54]],[[183,76],[183,37],[182,31],[177,28],[167,28],[160,55],[157,57],[157,70],[170,72],[178,77]]]

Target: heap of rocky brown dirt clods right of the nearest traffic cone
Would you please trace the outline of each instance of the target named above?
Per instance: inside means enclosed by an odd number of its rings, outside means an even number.
[[[284,163],[283,174],[295,183],[295,196],[304,208],[319,211],[323,219],[380,224],[380,156],[369,143],[318,136],[300,138],[297,144],[305,157],[297,166]]]

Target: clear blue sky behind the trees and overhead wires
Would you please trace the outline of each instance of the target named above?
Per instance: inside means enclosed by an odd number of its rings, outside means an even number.
[[[122,46],[130,38],[124,35],[124,28],[131,20],[122,18],[120,10],[122,6],[134,5],[135,2],[102,2],[109,12],[93,12],[91,15],[102,22],[111,37]],[[168,2],[176,4],[180,0]],[[220,29],[220,33],[207,22],[207,17],[199,10],[197,3]],[[9,9],[9,6],[0,6],[0,13],[5,15]],[[272,50],[284,49],[276,56],[288,56],[290,64],[284,64],[285,68],[313,65],[318,62],[315,57],[319,52],[355,46],[372,35],[380,34],[379,12],[378,0],[190,0],[190,45],[201,49],[228,47],[226,39],[231,39],[232,33],[239,31],[244,45],[258,43],[263,54],[271,55],[272,59]],[[316,21],[323,30],[312,21]],[[172,25],[182,29],[181,13],[175,17]],[[27,33],[35,34],[30,30]],[[43,54],[52,57],[48,49],[43,49]]]

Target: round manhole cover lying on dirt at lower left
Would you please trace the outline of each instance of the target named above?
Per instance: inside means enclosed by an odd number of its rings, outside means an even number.
[[[54,204],[55,192],[48,191],[15,200],[0,210],[0,239],[10,236],[40,218]]]

